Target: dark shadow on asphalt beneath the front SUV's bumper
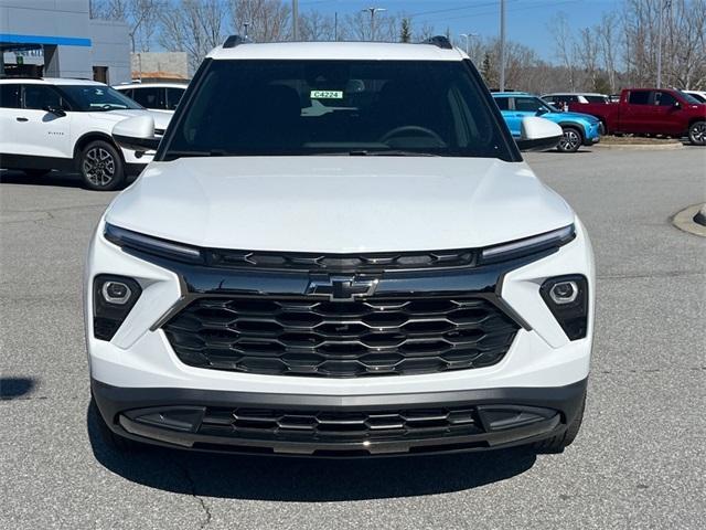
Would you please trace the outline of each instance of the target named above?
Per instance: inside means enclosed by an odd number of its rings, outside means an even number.
[[[96,459],[137,484],[205,497],[321,502],[414,497],[468,490],[530,469],[534,452],[489,453],[370,459],[307,459],[236,456],[145,447],[120,454],[100,439],[96,418],[87,415]]]

